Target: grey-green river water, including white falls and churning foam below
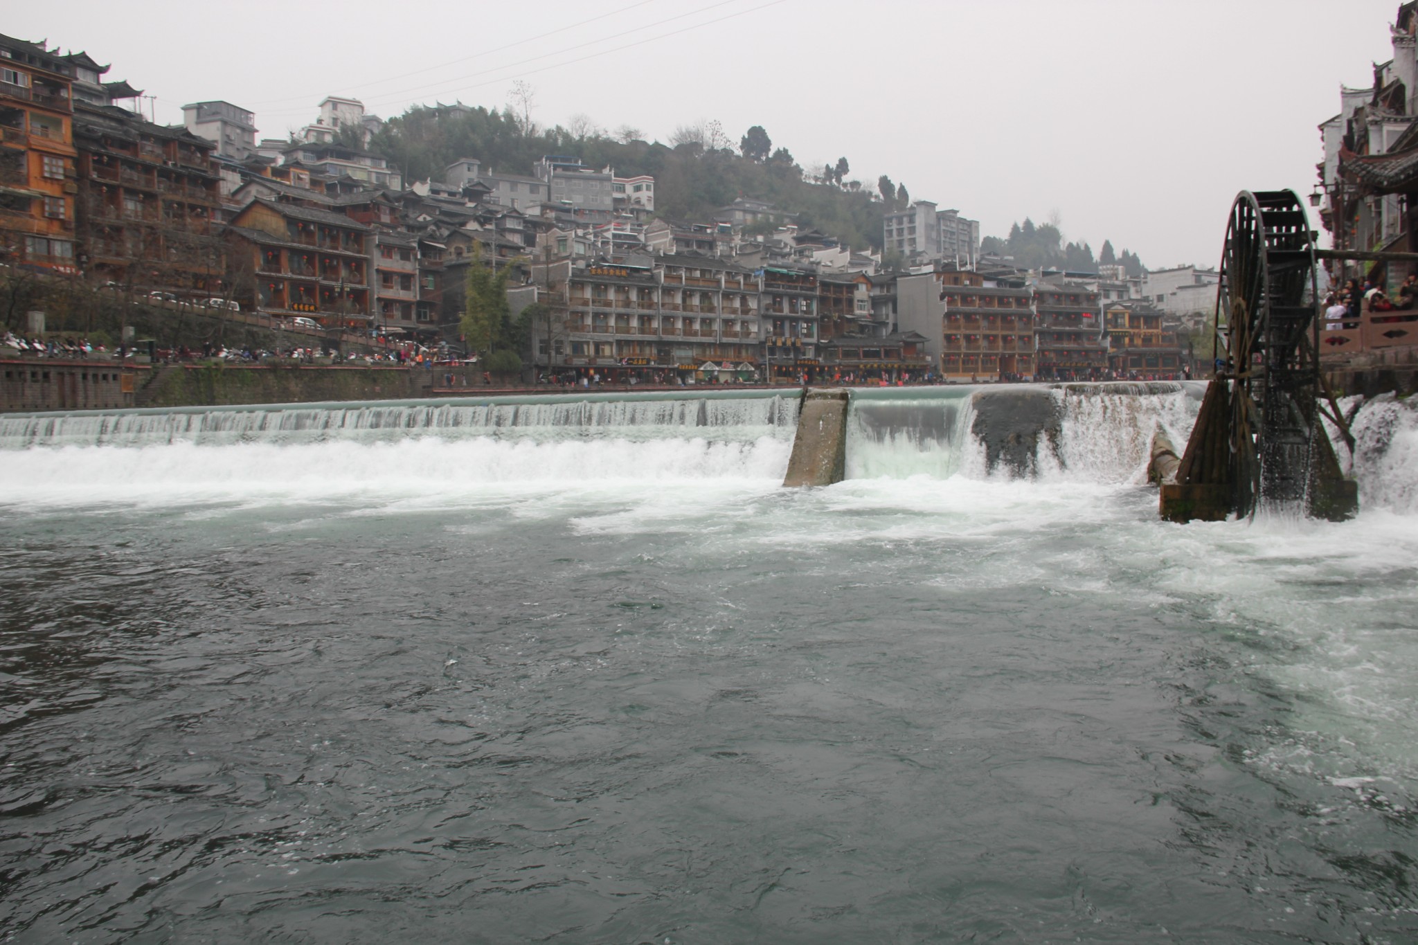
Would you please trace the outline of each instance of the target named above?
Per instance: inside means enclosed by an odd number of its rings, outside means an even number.
[[[1197,390],[1046,397],[0,418],[0,929],[1414,941],[1418,412],[1174,526]]]

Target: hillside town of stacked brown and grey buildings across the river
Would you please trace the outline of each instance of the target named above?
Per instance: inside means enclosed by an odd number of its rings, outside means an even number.
[[[885,213],[866,248],[753,194],[666,218],[654,177],[576,154],[465,154],[406,180],[357,99],[258,140],[257,115],[225,101],[147,120],[143,92],[86,52],[0,35],[0,262],[221,306],[316,349],[359,336],[476,358],[467,285],[486,266],[510,268],[510,315],[532,312],[523,380],[1171,380],[1210,358],[1190,339],[1214,271],[1020,268],[930,200]]]

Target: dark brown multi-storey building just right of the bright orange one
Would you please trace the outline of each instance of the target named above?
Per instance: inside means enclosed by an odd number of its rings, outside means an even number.
[[[74,143],[84,271],[129,288],[221,295],[213,142],[121,108],[79,103]]]

